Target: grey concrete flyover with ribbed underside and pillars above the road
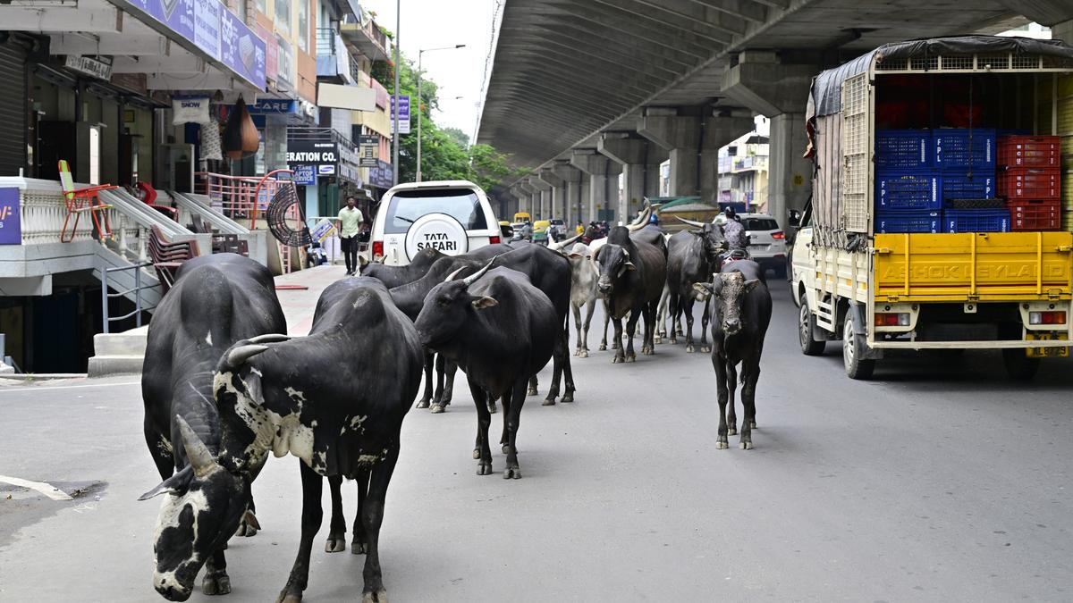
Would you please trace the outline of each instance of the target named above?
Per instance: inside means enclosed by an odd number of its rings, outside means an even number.
[[[764,115],[768,210],[781,221],[809,194],[813,75],[887,42],[1029,20],[1073,44],[1070,0],[506,0],[477,142],[550,186],[565,203],[544,207],[569,212],[556,217],[628,220],[667,158],[671,194],[712,201],[716,151]],[[621,203],[607,186],[619,173]],[[516,185],[540,207],[532,185]]]

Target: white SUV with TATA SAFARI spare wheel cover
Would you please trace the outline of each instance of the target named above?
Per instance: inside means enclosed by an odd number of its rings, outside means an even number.
[[[398,185],[372,220],[371,260],[405,266],[426,247],[447,255],[500,242],[499,222],[481,187],[467,180]]]

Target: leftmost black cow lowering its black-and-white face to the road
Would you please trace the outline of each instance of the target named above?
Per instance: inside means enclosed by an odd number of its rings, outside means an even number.
[[[234,253],[185,262],[149,322],[142,368],[145,441],[161,480],[168,484],[166,490],[176,495],[164,501],[153,536],[157,567],[152,584],[170,600],[190,597],[203,563],[207,572],[202,591],[231,592],[223,554],[226,536],[235,533],[235,528],[241,535],[256,533],[249,488],[221,497],[202,495],[202,503],[191,508],[179,504],[178,495],[185,497],[196,482],[192,479],[195,469],[190,448],[183,445],[183,431],[194,433],[209,454],[215,453],[220,441],[219,416],[212,401],[216,363],[235,341],[282,333],[286,333],[286,322],[271,273]],[[197,492],[190,489],[189,494]],[[229,519],[234,519],[230,532],[212,542],[205,532],[212,524],[205,517],[210,506],[226,509]],[[196,550],[172,546],[175,539],[191,535],[199,539]]]

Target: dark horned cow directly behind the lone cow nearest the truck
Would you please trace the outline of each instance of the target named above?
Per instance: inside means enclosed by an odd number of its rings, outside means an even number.
[[[679,218],[679,220],[682,220]],[[686,315],[686,352],[693,348],[693,283],[707,279],[719,266],[719,254],[725,250],[726,240],[716,224],[682,220],[700,226],[700,230],[679,231],[667,245],[668,307],[672,317],[671,343],[677,343],[680,334],[678,325]],[[708,347],[708,307],[705,305],[701,318],[701,351],[710,352]]]

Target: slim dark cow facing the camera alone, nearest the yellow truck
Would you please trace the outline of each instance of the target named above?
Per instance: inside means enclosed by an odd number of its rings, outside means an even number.
[[[736,432],[734,391],[738,364],[741,365],[744,409],[741,447],[752,447],[760,357],[764,351],[767,325],[771,322],[771,294],[763,275],[764,270],[755,262],[739,260],[712,275],[711,282],[693,285],[697,297],[707,300],[711,315],[711,365],[716,369],[719,389],[719,448],[729,447],[726,436]]]

